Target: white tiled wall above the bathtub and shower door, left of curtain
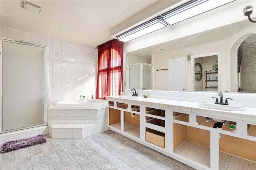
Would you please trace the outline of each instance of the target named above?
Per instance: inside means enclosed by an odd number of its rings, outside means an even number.
[[[50,102],[90,99],[96,90],[96,49],[78,43],[1,26],[1,37],[49,46]]]

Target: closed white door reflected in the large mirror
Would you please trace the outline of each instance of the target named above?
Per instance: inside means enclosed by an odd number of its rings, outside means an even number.
[[[169,90],[186,90],[186,58],[169,60]]]

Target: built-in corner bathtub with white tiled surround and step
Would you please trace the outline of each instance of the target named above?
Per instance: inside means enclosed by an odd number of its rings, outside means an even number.
[[[107,113],[107,100],[54,102],[48,107],[49,135],[52,138],[83,138],[107,131]]]

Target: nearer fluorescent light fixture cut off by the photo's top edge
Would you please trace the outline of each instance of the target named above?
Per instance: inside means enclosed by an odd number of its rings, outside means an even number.
[[[162,16],[164,21],[172,25],[232,1],[235,0],[191,0],[162,14]]]

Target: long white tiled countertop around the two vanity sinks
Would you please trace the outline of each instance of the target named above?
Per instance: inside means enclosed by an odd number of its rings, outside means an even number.
[[[119,96],[108,96],[108,100],[116,100],[120,101]],[[239,119],[245,121],[256,121],[256,108],[255,107],[244,107],[246,108],[245,111],[229,111],[229,110],[218,110],[218,109],[207,109],[204,107],[197,106],[200,102],[188,102],[188,101],[180,101],[180,100],[169,100],[169,99],[158,99],[158,98],[138,98],[138,99],[129,99],[131,102],[147,102],[148,103],[156,103],[156,104],[166,104],[166,105],[172,105],[172,106],[181,106],[181,107],[191,107],[194,109],[202,109],[202,110],[210,110],[210,111],[216,111],[216,112],[222,112],[222,113],[230,113],[230,115],[234,114],[233,116],[228,116],[228,118],[233,119]],[[227,114],[225,114],[227,115]],[[222,117],[224,117],[222,115]],[[225,116],[226,117],[226,116]]]

